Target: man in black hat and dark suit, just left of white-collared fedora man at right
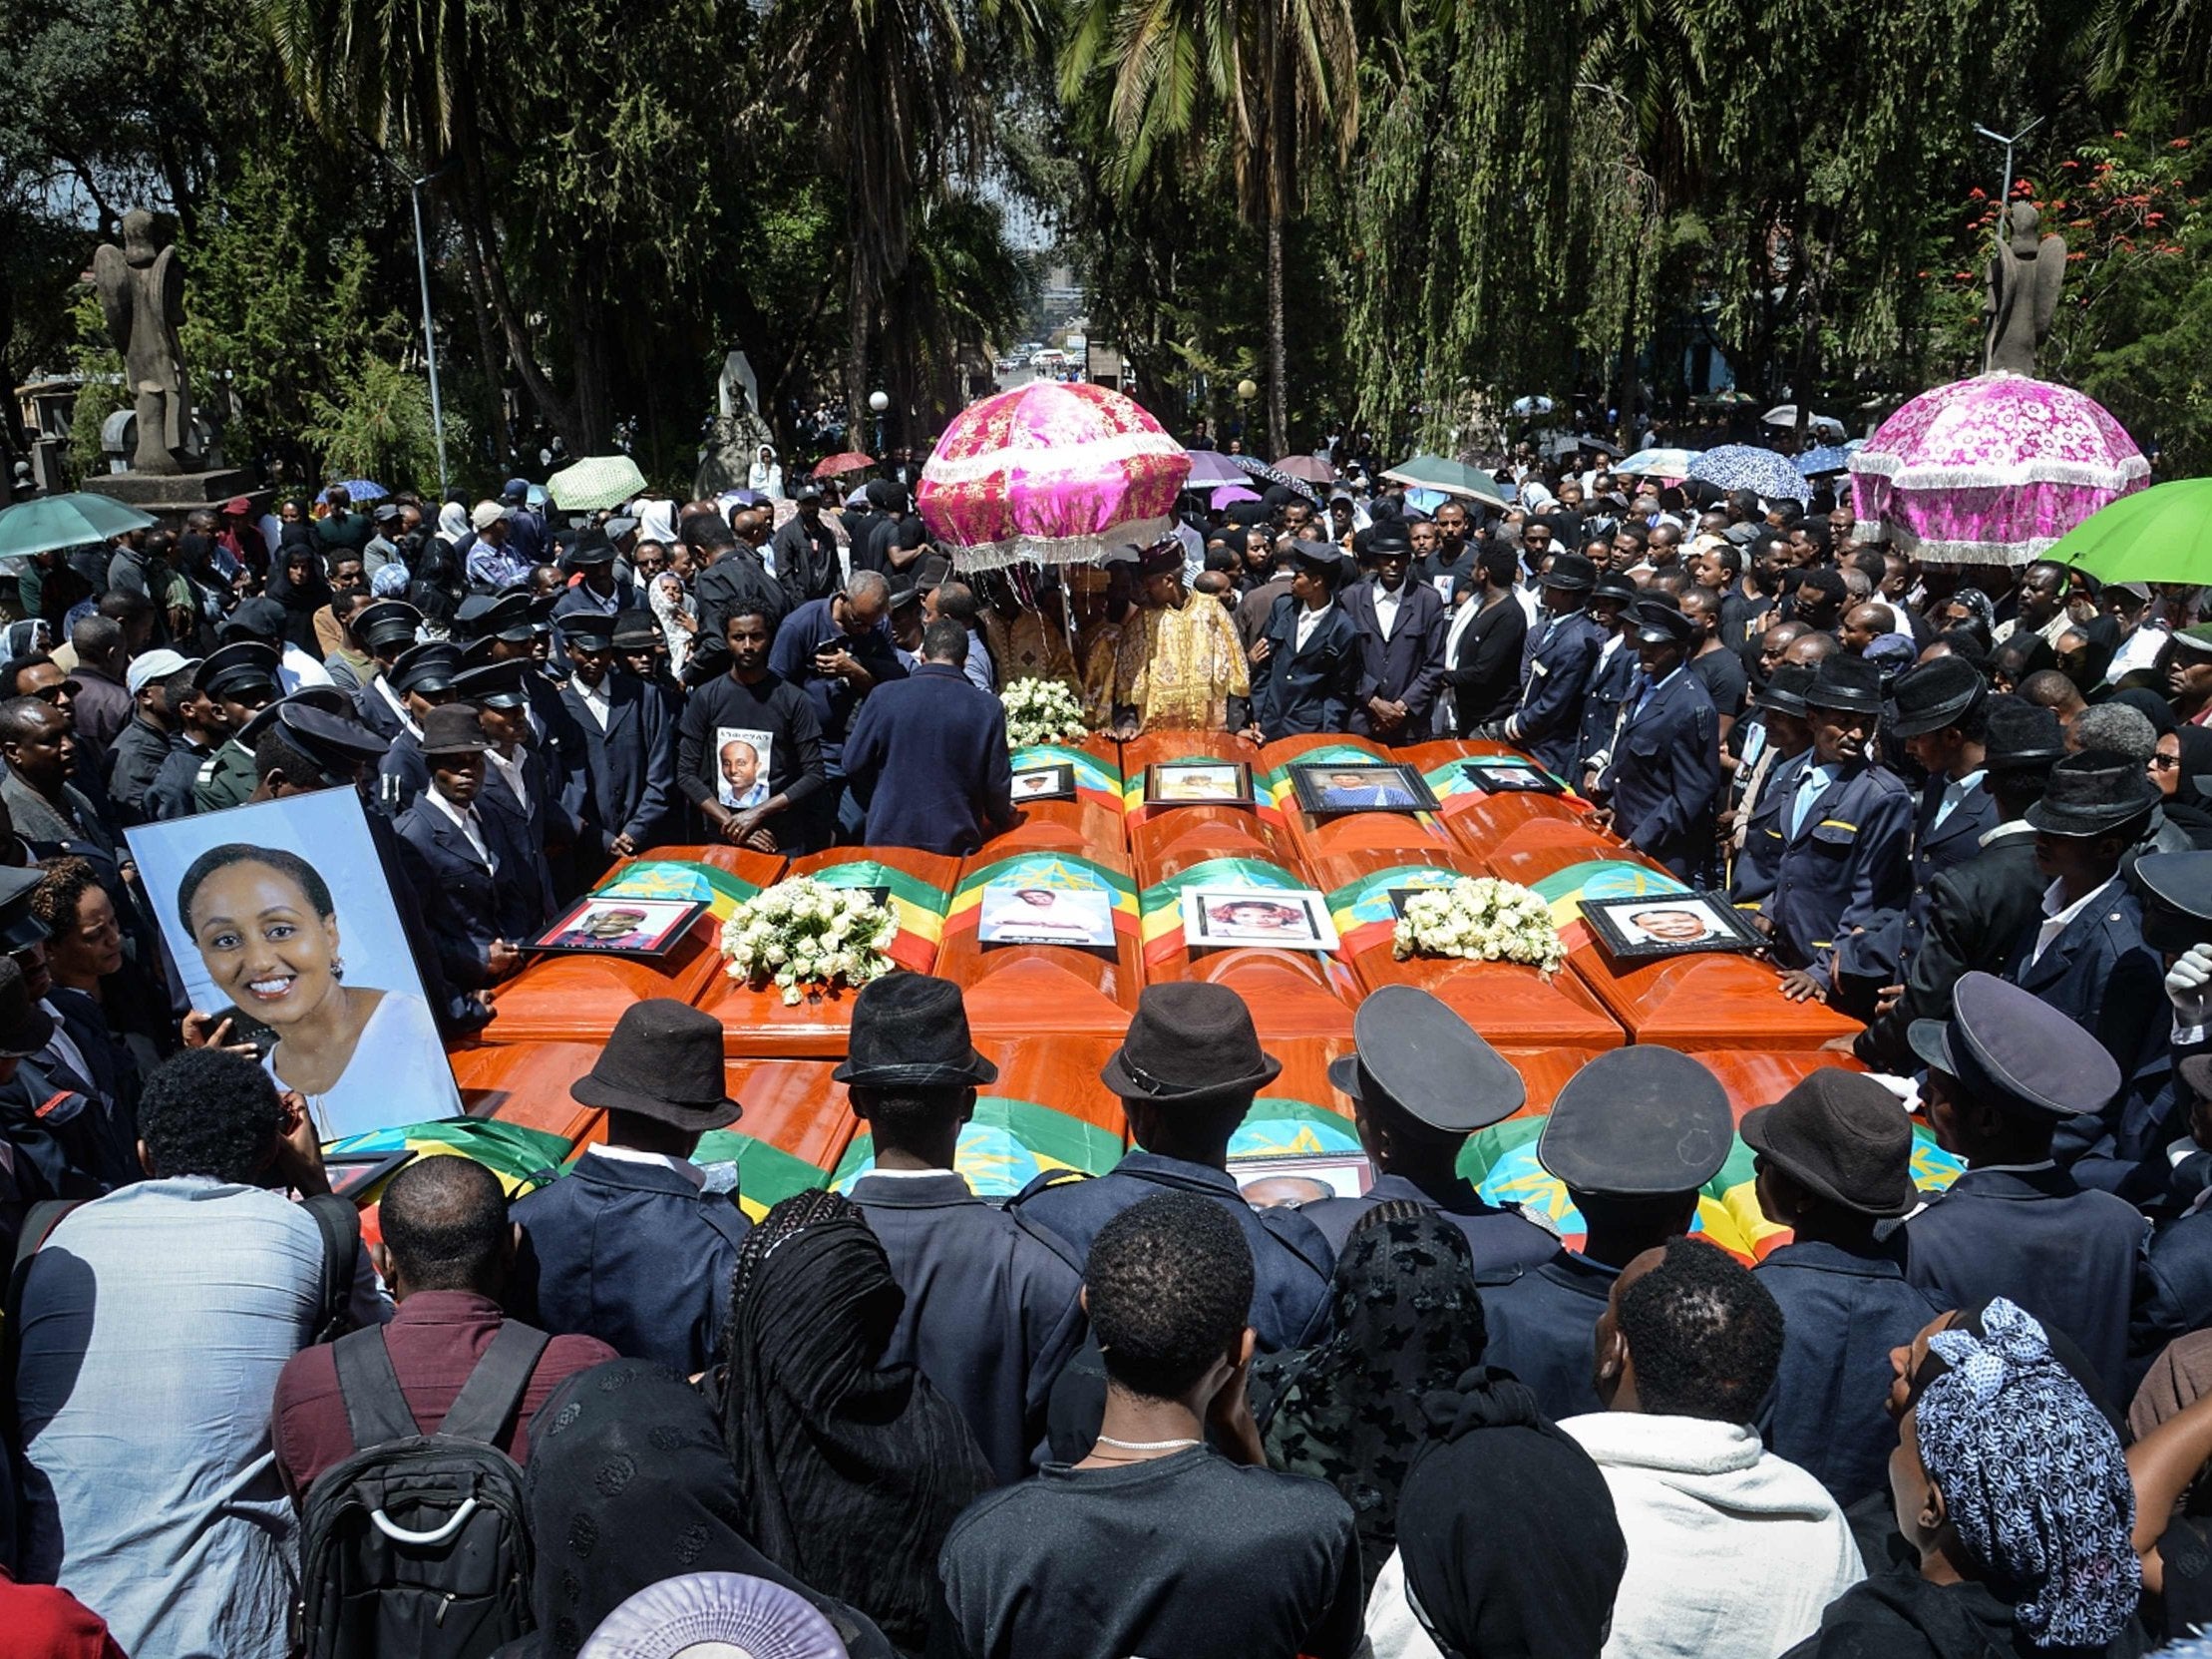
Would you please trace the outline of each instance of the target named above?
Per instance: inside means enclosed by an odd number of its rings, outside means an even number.
[[[2004,973],[2013,949],[2042,920],[2048,883],[2035,865],[2026,812],[2042,801],[2051,768],[2066,754],[2066,730],[2048,708],[2017,697],[1991,699],[1986,726],[1982,761],[1997,825],[1982,834],[1973,858],[1929,880],[1927,920],[1905,964],[1905,987],[1851,1040],[1851,1053],[1874,1071],[1900,1077],[1918,1071],[1907,1040],[1913,1020],[1949,1020],[1960,975]]]

